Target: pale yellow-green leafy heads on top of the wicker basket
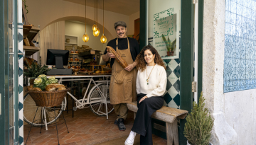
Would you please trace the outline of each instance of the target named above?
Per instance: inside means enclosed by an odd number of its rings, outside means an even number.
[[[55,79],[54,76],[50,76],[50,78],[47,79],[45,74],[41,74],[35,79],[33,87],[41,88],[41,90],[44,91],[46,86],[51,83],[58,83],[58,79]]]

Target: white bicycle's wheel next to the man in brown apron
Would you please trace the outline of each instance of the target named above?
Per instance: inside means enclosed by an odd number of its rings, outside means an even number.
[[[110,86],[107,86],[106,83],[97,84],[94,86],[89,95],[89,103],[92,101],[100,101],[97,103],[91,103],[90,110],[95,113],[95,115],[104,116],[106,113],[110,114],[114,110],[113,105],[110,104]],[[106,103],[107,102],[107,111],[106,111]]]

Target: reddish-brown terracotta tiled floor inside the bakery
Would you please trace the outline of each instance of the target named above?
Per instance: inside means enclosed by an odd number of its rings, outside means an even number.
[[[110,113],[109,119],[107,120],[105,116],[95,115],[89,108],[77,110],[74,112],[74,117],[72,117],[72,111],[68,114],[64,111],[65,120],[68,124],[68,130],[64,124],[58,125],[58,134],[60,139],[60,144],[99,144],[101,142],[110,141],[112,139],[117,139],[119,137],[128,137],[130,130],[132,129],[132,124],[134,122],[133,112],[128,113],[127,120],[124,124],[127,127],[126,131],[119,131],[117,125],[114,124],[116,115],[114,111]],[[61,117],[61,116],[60,116]],[[60,122],[64,122],[60,118]],[[24,144],[28,137],[28,131],[31,125],[24,126]],[[167,144],[165,139],[156,137],[153,135],[154,144],[164,145]],[[55,126],[48,127],[48,131],[45,128],[42,129],[40,134],[40,127],[32,127],[30,137],[28,137],[27,145],[30,144],[58,144],[57,134]]]

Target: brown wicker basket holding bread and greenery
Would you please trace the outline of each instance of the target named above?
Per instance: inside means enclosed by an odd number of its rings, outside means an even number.
[[[59,106],[70,88],[63,91],[28,91],[39,107]]]

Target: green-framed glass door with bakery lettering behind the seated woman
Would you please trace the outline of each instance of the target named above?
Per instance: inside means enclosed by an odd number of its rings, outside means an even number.
[[[159,52],[166,64],[167,86],[164,105],[191,111],[193,102],[193,1],[147,0],[146,44]],[[142,6],[141,6],[142,8]],[[142,13],[143,11],[141,11]],[[141,14],[142,17],[142,14]],[[186,144],[180,121],[179,143]],[[166,138],[165,122],[153,120],[154,134]]]

